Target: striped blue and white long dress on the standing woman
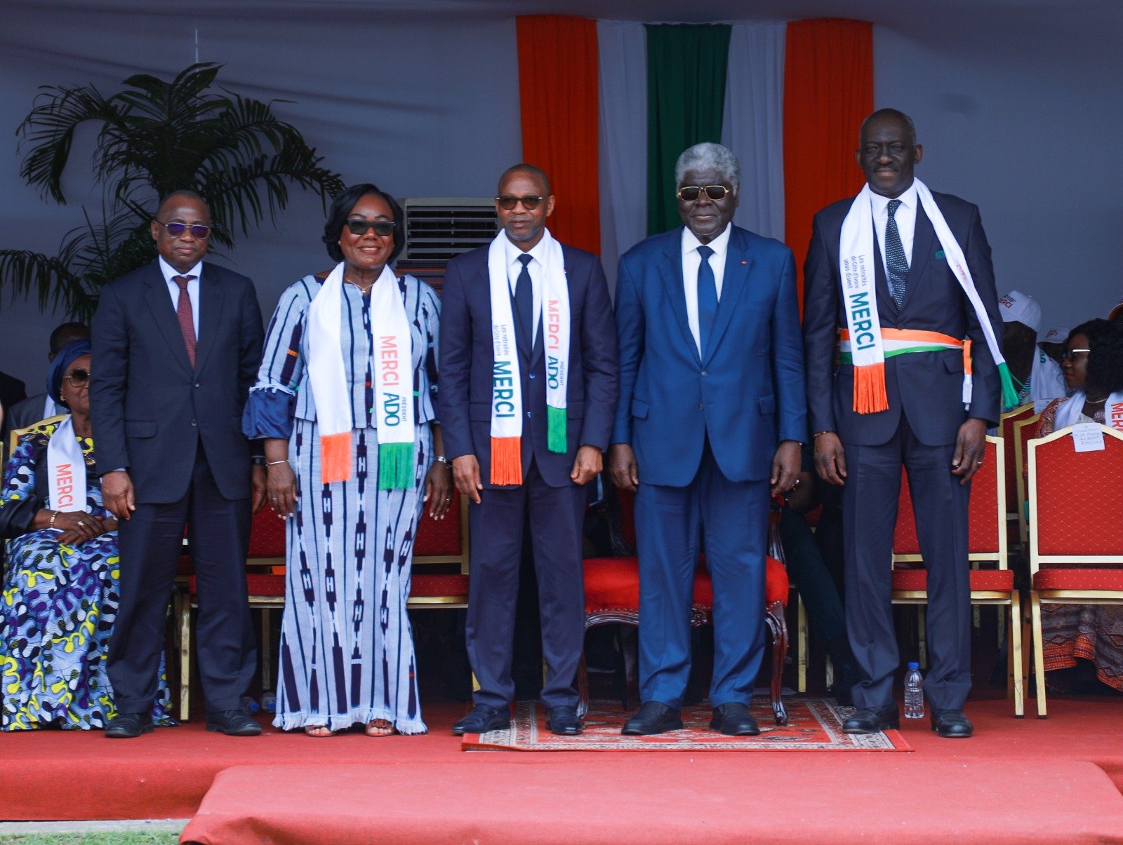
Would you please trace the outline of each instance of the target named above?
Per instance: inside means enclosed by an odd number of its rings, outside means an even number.
[[[323,485],[304,331],[308,306],[321,283],[305,276],[281,296],[243,417],[246,437],[289,439],[296,474],[273,724],[339,731],[386,719],[399,733],[423,734],[405,603],[413,535],[432,462],[429,423],[436,416],[440,301],[413,276],[399,279],[412,333],[414,484],[407,490],[380,490],[371,301],[354,285],[343,286],[339,342],[355,420],[354,471],[349,481]]]

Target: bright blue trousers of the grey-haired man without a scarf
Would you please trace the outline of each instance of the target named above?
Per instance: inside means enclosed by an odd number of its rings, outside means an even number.
[[[642,479],[643,468],[640,467]],[[640,481],[639,681],[643,701],[679,708],[691,671],[691,603],[702,541],[713,580],[714,707],[748,705],[765,645],[768,483],[730,481],[710,450],[685,487]]]

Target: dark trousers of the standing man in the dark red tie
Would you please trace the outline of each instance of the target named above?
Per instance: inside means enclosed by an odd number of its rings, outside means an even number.
[[[184,524],[198,584],[195,652],[207,711],[241,706],[257,664],[246,593],[249,511],[249,499],[219,493],[200,444],[183,498],[138,502],[133,517],[121,521],[121,604],[108,662],[118,711],[152,709]]]

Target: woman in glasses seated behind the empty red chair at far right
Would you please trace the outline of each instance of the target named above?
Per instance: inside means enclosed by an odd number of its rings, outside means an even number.
[[[1041,412],[1038,437],[1075,423],[1105,423],[1104,407],[1123,402],[1123,323],[1089,320],[1068,336],[1061,364],[1076,391]],[[1107,479],[1104,479],[1107,480]],[[1070,692],[1123,692],[1123,606],[1043,605],[1044,665],[1049,685]],[[1057,670],[1071,670],[1059,672]]]

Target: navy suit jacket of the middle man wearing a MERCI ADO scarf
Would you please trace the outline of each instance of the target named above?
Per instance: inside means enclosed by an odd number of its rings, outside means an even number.
[[[566,391],[565,454],[547,449],[542,327],[532,350],[520,346],[522,378],[522,471],[531,457],[551,487],[572,484],[581,446],[606,449],[617,406],[617,333],[600,259],[562,245],[569,287],[569,382]],[[448,263],[441,293],[439,414],[449,458],[475,454],[484,487],[491,484],[492,350],[487,247]],[[529,416],[528,416],[529,414]],[[500,489],[503,489],[502,487]]]

